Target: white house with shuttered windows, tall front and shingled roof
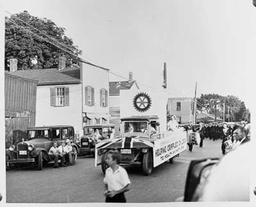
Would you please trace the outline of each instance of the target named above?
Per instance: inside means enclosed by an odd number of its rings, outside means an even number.
[[[109,121],[107,69],[85,63],[66,68],[61,57],[58,68],[10,73],[38,81],[36,126],[72,125],[83,135],[84,126]]]

